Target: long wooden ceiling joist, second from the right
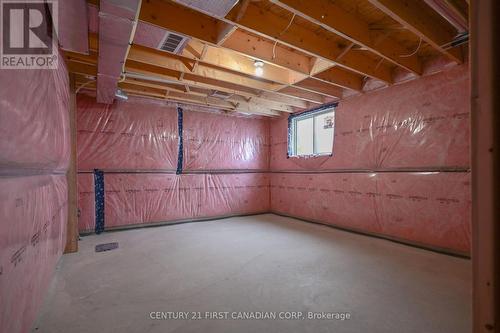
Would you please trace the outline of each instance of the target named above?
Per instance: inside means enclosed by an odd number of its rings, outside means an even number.
[[[417,75],[422,74],[422,64],[417,54],[411,52],[391,38],[384,38],[378,44],[368,23],[328,0],[271,0],[271,2],[299,15],[324,29],[338,34],[355,44],[378,54],[390,62]]]

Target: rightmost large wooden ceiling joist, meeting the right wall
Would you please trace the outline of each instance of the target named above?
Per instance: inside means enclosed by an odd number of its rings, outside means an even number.
[[[412,0],[369,0],[375,7],[411,30],[423,41],[438,51],[461,63],[461,48],[445,49],[442,45],[450,43],[456,30],[424,1]]]

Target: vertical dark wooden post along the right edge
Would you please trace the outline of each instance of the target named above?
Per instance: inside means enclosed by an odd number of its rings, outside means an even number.
[[[498,0],[471,1],[473,333],[500,332],[499,12]]]

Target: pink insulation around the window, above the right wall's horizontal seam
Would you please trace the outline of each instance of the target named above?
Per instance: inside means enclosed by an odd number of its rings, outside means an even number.
[[[287,119],[271,121],[271,169],[469,166],[466,65],[340,101],[333,157],[288,158]]]

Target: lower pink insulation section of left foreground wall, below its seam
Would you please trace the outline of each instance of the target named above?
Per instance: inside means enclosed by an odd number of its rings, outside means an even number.
[[[65,175],[0,178],[0,331],[28,332],[66,244]]]

